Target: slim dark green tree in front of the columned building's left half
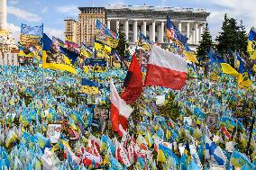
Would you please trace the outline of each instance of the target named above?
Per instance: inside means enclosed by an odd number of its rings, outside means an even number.
[[[127,54],[128,52],[128,48],[129,48],[129,44],[127,42],[127,40],[125,39],[125,34],[123,31],[119,31],[119,41],[118,41],[118,45],[117,47],[114,49],[118,52],[120,58],[121,58],[121,67],[123,67],[123,60],[124,60],[124,56]]]

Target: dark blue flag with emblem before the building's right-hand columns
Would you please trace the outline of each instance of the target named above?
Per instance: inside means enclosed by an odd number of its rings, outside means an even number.
[[[173,22],[170,21],[170,17],[167,16],[167,39],[172,40],[181,48],[185,48],[187,44],[187,37],[182,35],[180,31],[178,31],[177,27]]]

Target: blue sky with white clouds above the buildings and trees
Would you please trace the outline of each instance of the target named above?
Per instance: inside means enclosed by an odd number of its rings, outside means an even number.
[[[44,31],[64,37],[64,19],[78,18],[78,6],[106,6],[107,4],[153,5],[204,8],[210,12],[207,22],[215,36],[221,31],[224,13],[242,20],[247,31],[256,26],[256,0],[7,0],[7,29],[13,31],[17,40],[20,25],[44,24]]]

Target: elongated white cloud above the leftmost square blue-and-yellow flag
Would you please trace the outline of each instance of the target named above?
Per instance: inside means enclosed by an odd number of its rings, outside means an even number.
[[[19,19],[22,19],[27,22],[40,22],[41,17],[35,13],[28,12],[14,6],[7,6],[7,13],[14,14]]]

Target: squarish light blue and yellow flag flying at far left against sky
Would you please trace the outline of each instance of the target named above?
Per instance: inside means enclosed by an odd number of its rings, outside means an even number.
[[[22,45],[41,45],[42,32],[43,25],[30,26],[22,23],[20,43]]]

